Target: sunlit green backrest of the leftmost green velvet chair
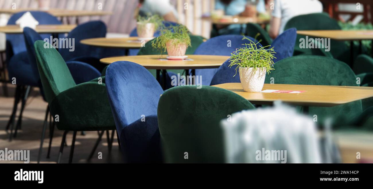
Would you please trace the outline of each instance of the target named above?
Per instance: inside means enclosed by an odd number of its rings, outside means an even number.
[[[48,103],[60,92],[75,86],[66,62],[60,53],[44,41],[35,41],[36,62],[41,83]]]

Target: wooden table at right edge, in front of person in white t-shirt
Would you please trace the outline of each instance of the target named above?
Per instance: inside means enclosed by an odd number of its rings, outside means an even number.
[[[359,41],[359,51],[361,53],[361,40],[372,40],[373,30],[300,30],[297,31],[299,35],[308,35],[317,38],[330,38],[337,41],[350,41],[351,44],[351,63],[353,63],[353,46],[354,41]],[[373,49],[372,49],[373,50]]]

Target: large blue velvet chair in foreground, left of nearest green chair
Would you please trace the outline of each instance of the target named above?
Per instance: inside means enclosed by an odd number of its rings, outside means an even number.
[[[137,63],[114,62],[106,70],[106,91],[127,161],[162,162],[157,106],[163,90],[157,80]]]

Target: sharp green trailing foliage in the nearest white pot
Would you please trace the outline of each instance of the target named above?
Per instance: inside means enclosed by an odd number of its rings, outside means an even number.
[[[255,38],[257,37],[258,34],[255,36]],[[242,40],[249,40],[250,43],[244,43],[243,45],[245,45],[245,47],[240,47],[231,53],[229,68],[236,65],[236,74],[233,75],[233,77],[237,75],[237,69],[239,67],[254,68],[254,72],[257,69],[266,69],[267,73],[274,70],[273,59],[276,58],[274,56],[276,52],[273,47],[270,49],[266,49],[267,47],[270,47],[270,45],[265,47],[257,47],[259,42],[254,43],[254,41],[245,36],[242,38]]]

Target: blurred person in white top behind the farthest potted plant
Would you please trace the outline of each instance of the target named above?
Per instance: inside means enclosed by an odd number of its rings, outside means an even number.
[[[160,15],[165,21],[178,22],[178,12],[170,0],[139,0],[140,16]]]

